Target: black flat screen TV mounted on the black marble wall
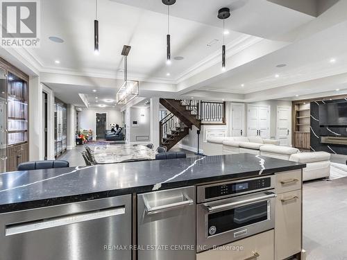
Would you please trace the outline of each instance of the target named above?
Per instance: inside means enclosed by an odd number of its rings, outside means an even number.
[[[319,105],[319,125],[347,126],[347,102]]]

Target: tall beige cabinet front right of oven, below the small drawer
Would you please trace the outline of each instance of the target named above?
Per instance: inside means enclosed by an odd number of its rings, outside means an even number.
[[[301,190],[276,198],[275,259],[301,252]]]

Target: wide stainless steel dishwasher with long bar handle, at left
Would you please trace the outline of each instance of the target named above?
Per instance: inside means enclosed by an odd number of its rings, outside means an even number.
[[[131,196],[0,214],[1,260],[131,260]]]

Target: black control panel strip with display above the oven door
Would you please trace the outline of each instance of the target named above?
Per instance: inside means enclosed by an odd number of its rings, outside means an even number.
[[[205,200],[232,196],[238,193],[251,193],[257,190],[270,189],[271,177],[261,177],[257,179],[248,179],[244,181],[215,184],[205,187]]]

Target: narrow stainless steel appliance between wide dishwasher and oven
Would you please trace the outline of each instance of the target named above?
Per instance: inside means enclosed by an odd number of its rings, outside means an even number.
[[[194,260],[195,188],[137,196],[137,259]]]

